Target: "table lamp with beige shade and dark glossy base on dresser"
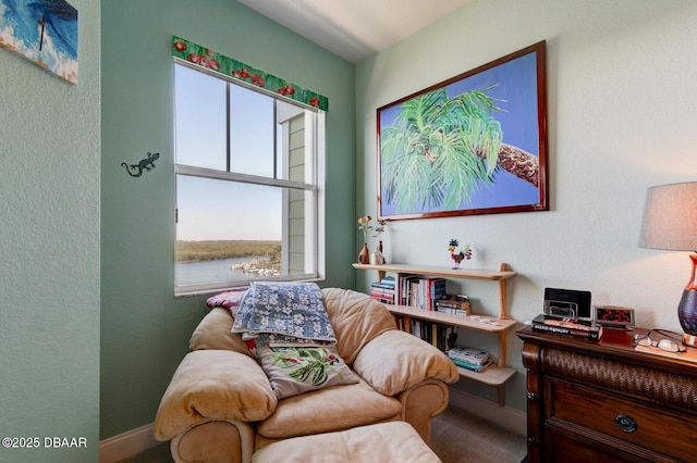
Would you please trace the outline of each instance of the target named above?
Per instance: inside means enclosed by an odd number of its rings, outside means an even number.
[[[693,251],[693,274],[677,305],[686,345],[697,345],[697,182],[650,187],[646,195],[639,247]]]

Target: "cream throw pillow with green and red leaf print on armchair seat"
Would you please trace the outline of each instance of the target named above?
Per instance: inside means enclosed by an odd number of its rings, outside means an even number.
[[[331,386],[358,383],[358,376],[346,366],[333,346],[267,345],[257,349],[257,355],[279,399]]]

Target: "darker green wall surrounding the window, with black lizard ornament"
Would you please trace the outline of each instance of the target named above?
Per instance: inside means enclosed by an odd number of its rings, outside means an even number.
[[[105,0],[100,435],[151,423],[203,297],[175,299],[172,35],[329,98],[323,286],[353,286],[354,65],[230,0]],[[205,104],[205,102],[201,102]],[[122,162],[159,152],[133,178]],[[211,224],[212,225],[212,224]],[[340,246],[338,246],[340,245]]]

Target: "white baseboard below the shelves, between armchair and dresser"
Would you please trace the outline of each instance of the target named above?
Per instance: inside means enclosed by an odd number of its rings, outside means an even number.
[[[509,429],[512,433],[527,435],[527,414],[511,406],[482,399],[455,388],[450,388],[450,405],[477,415],[482,420]]]

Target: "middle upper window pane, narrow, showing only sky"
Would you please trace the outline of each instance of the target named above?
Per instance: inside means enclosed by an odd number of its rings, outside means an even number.
[[[273,177],[273,98],[230,86],[230,170]]]

